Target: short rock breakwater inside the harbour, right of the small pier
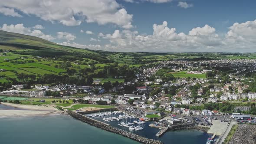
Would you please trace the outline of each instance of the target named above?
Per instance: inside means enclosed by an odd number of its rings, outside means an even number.
[[[179,125],[172,125],[169,127],[169,130],[188,130],[188,129],[196,129],[196,130],[200,130],[200,131],[208,131],[210,128],[207,127],[201,127],[198,126],[195,123],[191,123],[191,124],[179,124]]]

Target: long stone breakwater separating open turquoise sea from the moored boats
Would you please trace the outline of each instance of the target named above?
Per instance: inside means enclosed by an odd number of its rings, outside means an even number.
[[[92,126],[95,126],[97,128],[102,128],[105,131],[110,131],[110,132],[115,133],[115,134],[120,134],[124,137],[128,137],[128,138],[130,138],[134,141],[138,141],[138,142],[143,143],[143,144],[163,144],[161,141],[141,137],[137,134],[133,134],[131,132],[124,131],[124,130],[121,130],[119,128],[112,127],[111,125],[105,124],[103,122],[95,121],[92,118],[85,117],[84,115],[78,114],[74,111],[67,111],[67,114],[69,114],[73,118],[76,118],[80,121],[86,122],[86,123],[88,123]]]

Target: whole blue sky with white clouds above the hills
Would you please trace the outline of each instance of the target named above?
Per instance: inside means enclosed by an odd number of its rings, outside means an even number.
[[[255,0],[8,0],[0,3],[0,29],[108,51],[254,52],[255,6]]]

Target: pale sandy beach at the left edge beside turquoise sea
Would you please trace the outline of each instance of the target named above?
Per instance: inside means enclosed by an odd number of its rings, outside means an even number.
[[[23,108],[26,110],[0,110],[0,117],[10,116],[33,116],[33,115],[54,115],[58,114],[58,110],[53,106],[38,106],[38,105],[16,105],[10,103],[2,103],[16,108]]]

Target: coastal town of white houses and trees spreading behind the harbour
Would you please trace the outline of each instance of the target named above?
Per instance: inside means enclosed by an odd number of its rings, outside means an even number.
[[[157,137],[169,130],[203,130],[214,135],[209,141],[217,137],[213,142],[221,144],[233,124],[256,122],[255,114],[250,112],[256,99],[256,93],[251,92],[250,87],[254,79],[246,76],[246,73],[256,71],[255,65],[254,59],[199,62],[177,59],[161,61],[156,66],[141,66],[137,68],[134,79],[124,83],[101,83],[100,79],[94,79],[92,85],[40,84],[31,85],[28,90],[25,85],[12,85],[0,95],[3,95],[3,104],[13,103],[8,98],[19,97],[39,105],[62,103],[60,109],[68,106],[66,110],[75,112],[83,111],[82,107],[73,107],[79,104],[114,106],[126,115],[116,118],[94,114],[90,117],[102,117],[103,123],[122,121],[120,126],[136,131],[144,128],[136,128],[134,124],[154,121],[149,126],[161,128],[155,134]],[[61,100],[44,104],[52,98]],[[129,115],[133,122],[125,123]]]

